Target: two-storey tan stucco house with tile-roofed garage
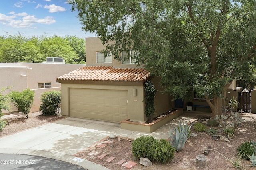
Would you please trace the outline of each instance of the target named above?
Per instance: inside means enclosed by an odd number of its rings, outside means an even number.
[[[101,52],[104,49],[98,37],[86,38],[86,67],[57,78],[61,83],[63,116],[116,123],[124,119],[145,122],[146,80],[151,80],[158,90],[154,116],[174,108],[172,98],[162,94],[158,78],[138,68],[132,58],[118,61],[114,56],[105,57]]]

